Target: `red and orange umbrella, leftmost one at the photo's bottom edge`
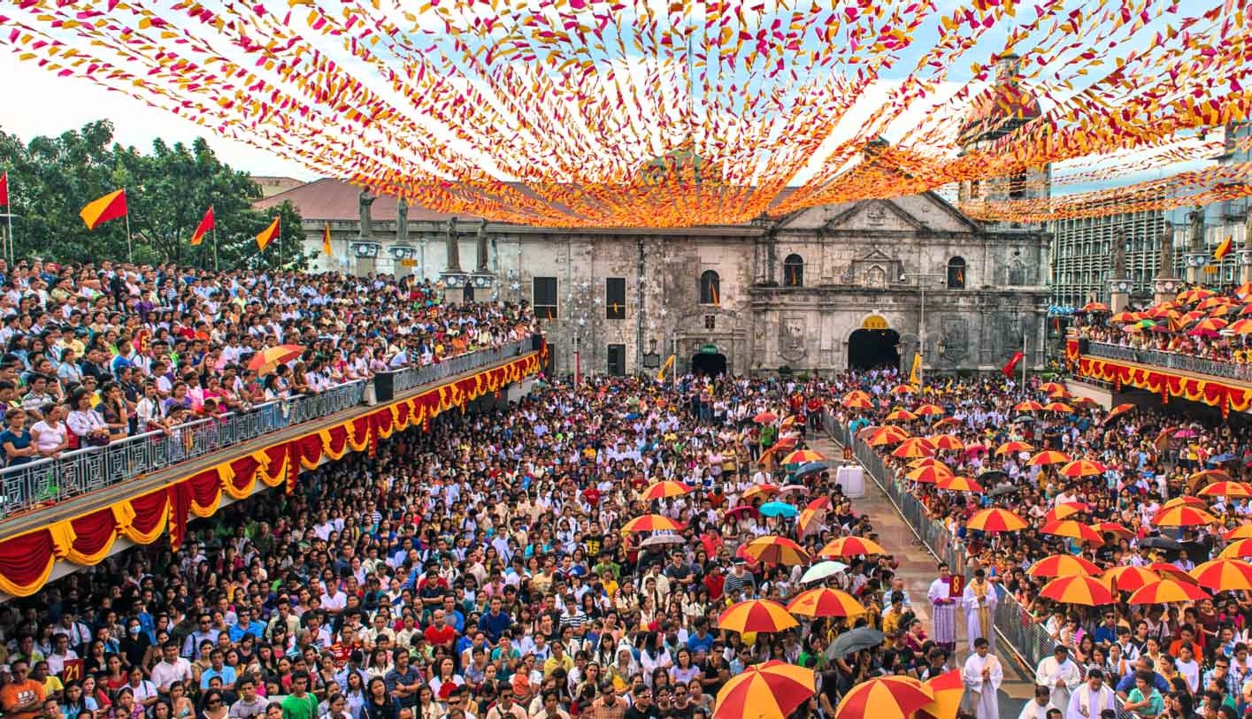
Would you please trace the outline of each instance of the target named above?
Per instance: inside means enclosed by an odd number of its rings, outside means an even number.
[[[717,691],[711,719],[785,719],[816,693],[813,669],[774,659],[746,666]]]

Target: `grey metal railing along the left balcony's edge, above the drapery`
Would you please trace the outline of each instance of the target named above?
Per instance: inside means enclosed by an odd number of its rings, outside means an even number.
[[[532,339],[498,349],[463,354],[438,364],[388,373],[394,393],[437,383],[451,376],[517,356],[532,346]],[[185,461],[263,438],[293,425],[328,418],[366,403],[367,380],[354,380],[314,395],[258,404],[248,410],[182,424],[170,434],[149,431],[106,446],[66,451],[0,470],[4,495],[0,518],[64,501],[140,475],[169,469]]]

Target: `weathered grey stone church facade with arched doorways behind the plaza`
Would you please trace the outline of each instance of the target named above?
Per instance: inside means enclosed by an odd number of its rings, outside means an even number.
[[[310,254],[331,225],[321,269],[442,276],[451,296],[536,305],[557,371],[577,353],[583,371],[634,374],[671,351],[680,371],[908,369],[923,338],[926,371],[998,369],[1023,344],[1032,365],[1044,356],[1047,235],[983,226],[930,193],[689,229],[485,223],[357,203],[337,180],[259,204],[287,200]]]

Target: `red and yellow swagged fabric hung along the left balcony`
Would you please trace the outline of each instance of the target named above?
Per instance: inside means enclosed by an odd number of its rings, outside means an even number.
[[[348,451],[372,453],[378,439],[422,426],[441,413],[464,408],[538,369],[538,354],[530,354],[328,429],[224,460],[148,494],[5,539],[0,541],[0,591],[30,596],[48,581],[58,560],[99,564],[119,536],[135,544],[151,544],[168,531],[177,549],[183,543],[189,518],[212,516],[223,495],[244,499],[258,489],[258,484],[292,491],[302,469],[313,469]]]

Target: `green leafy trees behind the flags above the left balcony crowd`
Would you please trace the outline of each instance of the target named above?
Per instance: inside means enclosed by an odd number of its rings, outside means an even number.
[[[130,234],[136,263],[177,261],[212,268],[214,243],[223,269],[240,266],[304,268],[299,213],[288,203],[277,209],[282,235],[264,253],[255,235],[273,220],[275,210],[255,210],[260,188],[213,154],[203,138],[183,143],[153,143],[139,153],[113,143],[113,125],[89,123],[56,138],[23,144],[0,133],[0,171],[9,173],[14,213],[15,256],[59,261],[126,258],[126,223],[114,220],[90,231],[79,218],[86,203],[119,188],[126,189]],[[217,231],[199,246],[192,233],[213,205]]]

